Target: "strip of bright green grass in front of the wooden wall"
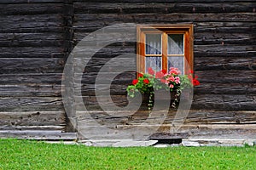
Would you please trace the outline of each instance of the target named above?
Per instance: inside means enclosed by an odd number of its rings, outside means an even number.
[[[256,169],[256,147],[133,147],[0,139],[0,169]]]

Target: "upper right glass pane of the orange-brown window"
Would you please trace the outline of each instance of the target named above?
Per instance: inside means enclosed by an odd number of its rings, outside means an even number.
[[[183,54],[183,34],[168,34],[168,54]]]

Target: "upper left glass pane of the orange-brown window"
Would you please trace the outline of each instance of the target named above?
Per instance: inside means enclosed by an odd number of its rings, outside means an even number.
[[[146,34],[146,54],[162,54],[161,34]]]

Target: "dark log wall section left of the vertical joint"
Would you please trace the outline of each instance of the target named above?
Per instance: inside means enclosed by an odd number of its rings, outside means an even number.
[[[0,1],[0,130],[65,130],[61,76],[72,18],[71,1]]]

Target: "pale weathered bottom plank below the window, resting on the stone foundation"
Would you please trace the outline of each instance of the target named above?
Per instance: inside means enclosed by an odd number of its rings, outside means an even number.
[[[159,125],[118,125],[118,126],[104,126],[104,131],[102,131],[102,127],[100,126],[86,126],[83,122],[81,122],[81,131],[90,131],[90,139],[141,139],[143,134],[148,133],[148,129],[156,129]],[[200,125],[183,125],[183,127],[179,128],[177,132],[170,133],[172,125],[162,125],[160,126],[157,132],[152,133],[164,133],[170,134],[171,136],[184,136],[185,138],[189,137],[203,137],[204,139],[221,136],[223,139],[236,139],[236,138],[248,138],[255,139],[255,125],[248,126],[200,126]],[[125,133],[126,129],[137,129],[137,131],[130,131],[130,133]],[[119,133],[117,133],[119,132]],[[235,137],[234,137],[235,136]],[[83,135],[79,135],[79,139],[86,138]]]

